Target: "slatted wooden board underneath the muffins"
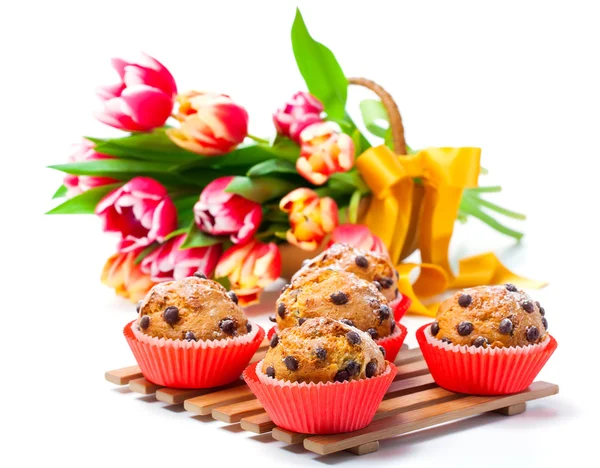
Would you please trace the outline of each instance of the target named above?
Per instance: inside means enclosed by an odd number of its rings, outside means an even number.
[[[268,345],[266,340],[261,343],[252,362],[264,357]],[[274,439],[286,444],[302,443],[305,449],[319,455],[342,450],[365,455],[376,452],[382,439],[487,412],[514,416],[526,410],[527,401],[558,393],[558,386],[547,382],[535,382],[529,389],[514,395],[454,393],[435,384],[418,348],[403,347],[395,364],[398,373],[373,422],[359,431],[333,435],[299,434],[276,427],[243,380],[213,389],[164,388],[147,381],[138,366],[109,371],[105,378],[116,385],[129,385],[133,392],[155,394],[164,403],[183,404],[194,414],[212,415],[227,424],[240,423],[242,429],[255,434],[271,432]]]

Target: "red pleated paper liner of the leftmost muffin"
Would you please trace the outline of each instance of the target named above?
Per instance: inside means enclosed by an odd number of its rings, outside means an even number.
[[[239,378],[262,342],[265,331],[252,324],[252,332],[236,338],[183,341],[153,338],[133,330],[123,334],[144,377],[171,388],[210,388]]]

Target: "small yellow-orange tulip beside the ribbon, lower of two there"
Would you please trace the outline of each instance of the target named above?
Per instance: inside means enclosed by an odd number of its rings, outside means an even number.
[[[319,198],[314,190],[299,188],[281,199],[279,208],[289,213],[287,241],[303,250],[316,250],[338,224],[338,209],[332,198]]]

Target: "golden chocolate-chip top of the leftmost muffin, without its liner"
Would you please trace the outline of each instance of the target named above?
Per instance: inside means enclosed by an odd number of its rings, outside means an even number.
[[[172,340],[223,340],[252,326],[237,296],[204,275],[155,285],[138,305],[142,333]]]

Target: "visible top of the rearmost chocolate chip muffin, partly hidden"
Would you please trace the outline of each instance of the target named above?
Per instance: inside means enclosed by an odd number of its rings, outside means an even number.
[[[347,244],[333,244],[306,263],[292,277],[292,282],[321,268],[344,270],[373,282],[392,302],[399,296],[397,272],[387,255],[357,249]]]

